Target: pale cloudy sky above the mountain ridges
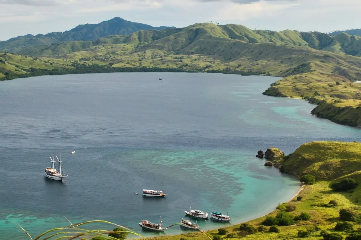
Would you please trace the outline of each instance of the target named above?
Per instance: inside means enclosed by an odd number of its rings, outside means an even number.
[[[329,32],[361,28],[361,0],[0,0],[0,40],[119,17],[152,26],[199,22]]]

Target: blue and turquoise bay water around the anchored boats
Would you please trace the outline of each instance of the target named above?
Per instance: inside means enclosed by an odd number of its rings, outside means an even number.
[[[68,225],[64,217],[158,235],[138,222],[162,216],[169,226],[190,205],[247,221],[299,190],[295,177],[264,167],[257,150],[288,154],[308,141],[360,140],[358,128],[311,116],[314,105],[262,95],[278,78],[161,75],[163,81],[159,73],[110,73],[0,83],[1,240],[26,239],[17,224],[36,236]],[[62,148],[63,184],[43,178],[52,148]],[[169,195],[133,194],[142,189]],[[165,234],[181,232],[175,226]]]

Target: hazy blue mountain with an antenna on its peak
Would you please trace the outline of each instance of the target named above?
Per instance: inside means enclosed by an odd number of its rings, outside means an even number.
[[[139,30],[162,30],[165,28],[174,27],[153,27],[148,24],[130,22],[116,17],[97,24],[78,25],[65,32],[51,32],[45,35],[38,34],[35,36],[28,34],[25,36],[13,37],[7,41],[0,42],[0,51],[21,53],[21,51],[27,47],[38,47],[41,45],[49,46],[64,41],[92,41],[109,35],[130,35]]]

